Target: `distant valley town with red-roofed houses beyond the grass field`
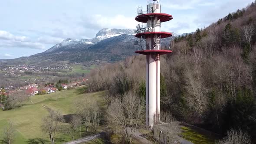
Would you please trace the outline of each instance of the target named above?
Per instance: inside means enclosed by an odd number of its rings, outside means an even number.
[[[0,95],[24,92],[26,95],[49,94],[62,89],[85,85],[87,78],[82,72],[73,72],[73,64],[57,66],[7,65],[0,67]],[[79,65],[82,67],[82,65]],[[84,67],[83,67],[84,68]],[[67,77],[68,76],[68,77]],[[74,77],[73,79],[70,76]],[[65,79],[65,80],[63,80]],[[9,83],[4,83],[8,80]],[[2,91],[4,89],[4,91]]]

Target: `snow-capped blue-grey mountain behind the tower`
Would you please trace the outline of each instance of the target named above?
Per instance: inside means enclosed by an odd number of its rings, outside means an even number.
[[[116,62],[135,55],[135,51],[139,49],[138,45],[134,45],[138,40],[134,35],[134,29],[102,29],[92,39],[65,39],[45,52],[27,59],[35,62]],[[173,35],[162,39],[161,46],[168,48],[171,40],[177,36],[176,33]]]

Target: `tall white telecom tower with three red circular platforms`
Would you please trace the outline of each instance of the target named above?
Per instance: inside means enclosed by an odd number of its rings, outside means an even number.
[[[147,0],[147,12],[142,7],[138,8],[135,20],[144,23],[137,26],[139,38],[135,45],[138,51],[146,55],[146,124],[153,127],[160,121],[160,56],[171,53],[169,49],[161,48],[161,39],[172,36],[171,33],[161,32],[161,23],[172,20],[172,16],[161,13],[159,0]]]

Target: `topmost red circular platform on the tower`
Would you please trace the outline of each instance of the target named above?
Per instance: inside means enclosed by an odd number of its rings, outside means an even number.
[[[136,16],[135,20],[137,20],[138,22],[141,22],[141,23],[147,23],[148,17],[158,17],[158,19],[160,19],[161,23],[167,22],[167,21],[173,19],[172,15],[167,14],[167,13],[145,13],[145,14]]]

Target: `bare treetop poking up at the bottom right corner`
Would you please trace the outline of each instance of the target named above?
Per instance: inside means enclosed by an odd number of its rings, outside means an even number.
[[[252,144],[250,136],[241,130],[229,130],[226,137],[219,141],[218,144]]]

